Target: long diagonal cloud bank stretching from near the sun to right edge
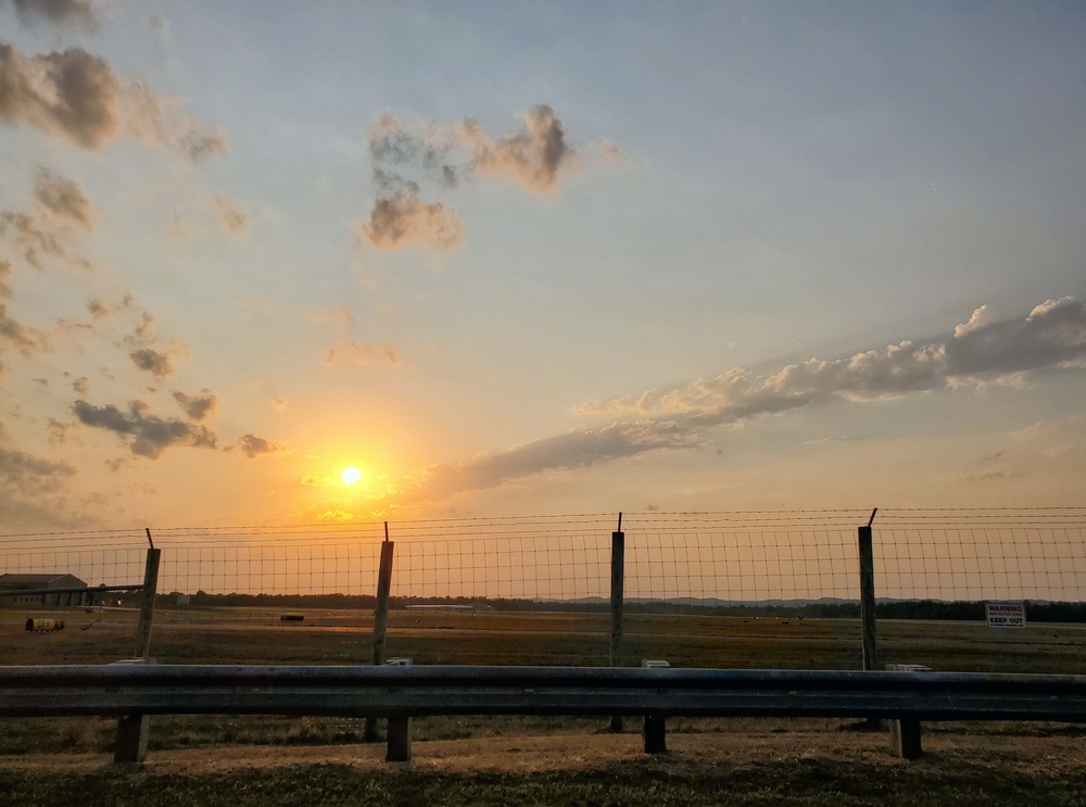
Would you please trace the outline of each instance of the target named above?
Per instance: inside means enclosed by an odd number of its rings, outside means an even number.
[[[441,501],[548,471],[647,452],[690,450],[705,445],[714,429],[834,400],[863,404],[1083,366],[1086,303],[1082,300],[1049,300],[1026,316],[1008,318],[982,307],[952,333],[921,344],[906,341],[849,358],[811,358],[766,375],[733,368],[669,390],[590,401],[578,408],[580,414],[628,419],[428,468],[396,499],[404,504]]]

